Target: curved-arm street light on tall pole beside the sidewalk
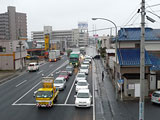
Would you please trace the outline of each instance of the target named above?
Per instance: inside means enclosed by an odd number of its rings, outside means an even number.
[[[111,22],[113,25],[114,25],[114,27],[115,27],[115,35],[116,35],[116,37],[115,37],[115,42],[116,42],[116,48],[115,48],[115,55],[116,55],[116,73],[115,73],[115,85],[116,85],[116,99],[118,99],[118,86],[117,86],[117,82],[118,82],[118,78],[117,78],[117,47],[118,47],[118,45],[117,45],[117,25],[113,22],[113,21],[111,21],[111,20],[109,20],[109,19],[106,19],[106,18],[92,18],[92,20],[106,20],[106,21],[108,21],[108,22]]]

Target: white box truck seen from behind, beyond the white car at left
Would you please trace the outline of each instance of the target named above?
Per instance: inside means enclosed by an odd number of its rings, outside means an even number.
[[[60,50],[50,50],[49,51],[49,61],[50,62],[56,62],[61,58],[60,56]]]

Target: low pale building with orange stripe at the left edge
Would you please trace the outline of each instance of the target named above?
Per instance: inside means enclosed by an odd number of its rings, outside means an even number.
[[[0,70],[18,70],[25,67],[26,42],[24,40],[0,41]]]

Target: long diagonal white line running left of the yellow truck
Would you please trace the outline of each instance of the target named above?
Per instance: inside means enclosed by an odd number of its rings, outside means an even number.
[[[61,67],[65,66],[66,64],[68,64],[68,61],[64,62],[60,67],[58,67],[56,70],[54,70],[52,73],[50,73],[49,75],[53,74],[55,71],[57,71],[58,69],[60,69]],[[48,75],[48,76],[49,76]],[[18,100],[16,100],[12,105],[15,105],[18,101],[20,101],[22,98],[24,98],[29,92],[31,92],[35,87],[37,87],[39,84],[41,83],[38,82],[35,86],[33,86],[29,91],[27,91],[24,95],[22,95]]]

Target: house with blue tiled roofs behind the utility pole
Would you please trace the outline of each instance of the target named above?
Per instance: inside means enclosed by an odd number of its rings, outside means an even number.
[[[118,79],[124,80],[122,87],[125,97],[140,96],[140,40],[141,28],[121,28],[118,31],[118,63],[116,65],[114,61],[112,71],[114,76],[117,72]],[[145,96],[156,89],[160,89],[160,29],[147,27],[145,28]]]

